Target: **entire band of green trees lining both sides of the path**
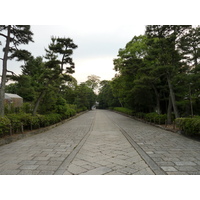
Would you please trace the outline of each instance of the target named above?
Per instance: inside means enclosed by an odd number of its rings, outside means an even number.
[[[9,45],[32,41],[30,26],[0,26],[0,33],[7,41],[2,58],[6,73],[7,59],[25,61],[22,74],[12,76],[15,82],[6,86],[6,91],[31,102],[33,115],[62,113],[65,104],[91,109],[96,101],[99,108],[167,114],[168,123],[173,117],[200,115],[199,26],[148,25],[143,35],[134,36],[119,49],[112,80],[100,81],[97,75],[90,75],[81,84],[72,76],[72,54],[77,48],[72,39],[52,37],[44,58],[34,58]],[[1,92],[5,92],[2,86]]]

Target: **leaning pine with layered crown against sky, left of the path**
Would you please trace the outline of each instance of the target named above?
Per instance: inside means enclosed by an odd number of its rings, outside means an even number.
[[[49,88],[59,88],[63,81],[67,82],[71,80],[69,74],[74,73],[75,68],[71,55],[76,48],[77,45],[70,38],[51,38],[51,44],[46,49],[45,58],[47,62],[42,74],[43,87],[36,100],[33,115],[36,115],[38,106]]]

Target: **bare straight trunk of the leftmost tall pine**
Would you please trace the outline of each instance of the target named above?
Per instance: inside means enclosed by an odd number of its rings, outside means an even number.
[[[0,116],[4,116],[4,99],[5,99],[5,85],[6,85],[6,72],[7,72],[7,60],[8,60],[8,51],[10,45],[10,29],[11,25],[8,26],[6,45],[3,56],[3,68],[2,68],[2,77],[1,77],[1,89],[0,89]]]

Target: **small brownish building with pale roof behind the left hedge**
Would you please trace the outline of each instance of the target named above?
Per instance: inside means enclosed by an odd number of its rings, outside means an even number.
[[[13,105],[15,108],[21,107],[23,104],[23,98],[17,94],[5,93],[4,101],[6,104]]]

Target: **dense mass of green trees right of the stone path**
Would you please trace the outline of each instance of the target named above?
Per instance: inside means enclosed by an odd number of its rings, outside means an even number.
[[[114,59],[118,72],[103,85],[99,101],[113,107],[114,98],[135,112],[168,114],[175,118],[200,114],[200,27],[149,25],[134,36]],[[107,104],[103,98],[107,95]],[[100,104],[101,105],[101,104]]]

